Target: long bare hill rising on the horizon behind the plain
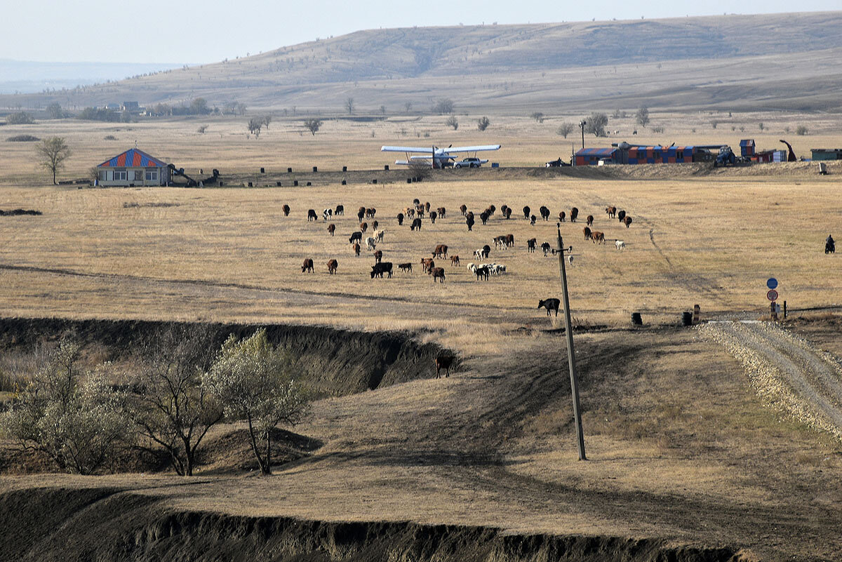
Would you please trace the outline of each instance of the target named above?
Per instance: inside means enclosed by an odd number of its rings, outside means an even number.
[[[372,29],[232,61],[3,105],[71,109],[136,99],[392,113],[436,98],[457,110],[840,110],[842,12],[562,24]]]

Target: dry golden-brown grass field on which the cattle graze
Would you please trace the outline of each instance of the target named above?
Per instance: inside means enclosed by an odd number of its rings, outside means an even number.
[[[450,379],[320,400],[312,420],[296,431],[324,447],[271,479],[210,472],[184,485],[166,475],[31,475],[3,477],[0,489],[114,485],[191,510],[658,537],[744,547],[749,559],[838,558],[842,544],[832,529],[842,523],[839,443],[766,408],[736,360],[695,331],[673,326],[694,304],[706,317],[763,315],[770,276],[780,280],[781,299],[791,309],[842,305],[839,257],[823,253],[828,232],[842,232],[842,168],[832,167],[826,178],[806,164],[544,177],[505,167],[566,156],[573,135],[565,142],[554,135],[556,120],[501,117],[478,133],[471,130],[476,116],[462,119],[464,133],[445,130],[444,119],[424,118],[328,121],[316,136],[299,134],[297,120],[279,119],[259,139],[246,138],[242,119],[210,119],[205,135],[195,133],[205,121],[193,120],[4,127],[3,135],[66,136],[75,150],[66,178],[84,177],[135,140],[187,172],[217,167],[223,177],[258,186],[264,178],[248,176],[261,166],[266,179],[282,183],[287,166],[381,169],[390,162],[379,152],[383,144],[499,141],[504,148],[492,159],[504,168],[498,177],[469,172],[455,181],[454,171],[413,184],[341,186],[334,176],[301,173],[296,178],[312,187],[77,189],[45,185],[30,145],[0,143],[0,209],[43,212],[0,217],[0,315],[405,330],[465,359]],[[637,138],[737,146],[745,137],[772,147],[780,137],[798,153],[842,146],[837,123],[825,116],[739,119],[747,130],[764,119],[773,132],[704,129],[708,114],[663,114],[653,121],[665,124],[669,138]],[[801,123],[817,134],[781,137],[784,126]],[[626,119],[616,129],[631,126]],[[702,132],[694,135],[692,128]],[[394,216],[415,197],[446,207],[447,217],[435,225],[425,218],[420,232],[398,227]],[[289,217],[283,204],[292,209]],[[330,220],[337,225],[331,237],[321,211],[336,204],[346,214]],[[515,211],[511,220],[499,212],[488,225],[477,220],[468,232],[460,204],[477,215],[488,204]],[[588,463],[573,451],[562,339],[542,331],[560,323],[536,310],[537,300],[560,294],[557,258],[543,257],[540,248],[526,252],[533,236],[539,245],[555,245],[555,220],[531,226],[520,213],[527,204],[533,212],[545,204],[552,216],[579,209],[580,221],[561,230],[573,245],[571,309],[583,328],[576,337]],[[631,227],[609,220],[607,204],[626,209]],[[384,261],[413,262],[413,273],[370,279],[370,252],[354,257],[347,243],[361,205],[376,207],[386,229],[378,246]],[[319,220],[308,223],[307,209]],[[605,246],[584,241],[589,214],[594,230],[605,232]],[[489,260],[504,263],[508,273],[477,282],[465,268],[476,262],[472,250],[509,233],[514,249],[492,250]],[[615,239],[626,242],[624,252]],[[462,265],[445,263],[445,283],[434,284],[418,262],[442,243]],[[301,273],[305,257],[313,258],[315,273]],[[337,275],[328,275],[329,258],[338,259]],[[642,312],[642,329],[630,329],[632,311]],[[837,349],[834,329],[809,326],[808,337]]]

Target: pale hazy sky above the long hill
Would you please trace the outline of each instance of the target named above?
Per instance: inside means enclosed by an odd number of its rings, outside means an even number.
[[[793,8],[795,7],[795,8]],[[546,0],[16,0],[4,3],[0,58],[216,62],[359,29],[521,24],[838,10],[842,0],[688,3]],[[4,77],[0,77],[3,79]],[[5,77],[8,79],[8,77]]]

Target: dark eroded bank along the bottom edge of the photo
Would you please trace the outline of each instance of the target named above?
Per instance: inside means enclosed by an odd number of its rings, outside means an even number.
[[[716,562],[733,549],[670,548],[658,540],[504,535],[499,529],[411,522],[318,522],[175,512],[113,489],[0,495],[0,561]]]

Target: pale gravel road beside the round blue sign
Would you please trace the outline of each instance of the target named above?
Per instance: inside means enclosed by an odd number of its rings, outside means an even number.
[[[743,363],[770,406],[842,440],[842,368],[834,356],[771,322],[711,322],[700,332]]]

